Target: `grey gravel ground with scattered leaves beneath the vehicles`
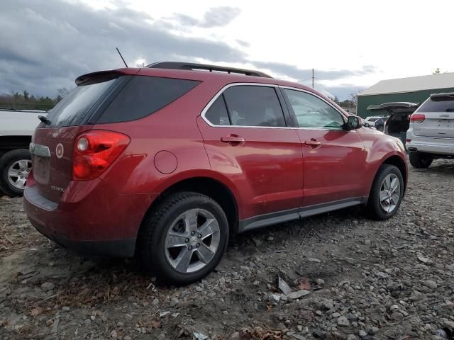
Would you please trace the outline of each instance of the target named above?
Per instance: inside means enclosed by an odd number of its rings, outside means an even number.
[[[453,339],[453,192],[453,162],[410,168],[392,220],[350,208],[241,234],[183,288],[59,248],[2,197],[0,339]]]

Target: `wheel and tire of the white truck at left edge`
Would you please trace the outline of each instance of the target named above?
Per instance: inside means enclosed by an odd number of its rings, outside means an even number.
[[[31,171],[31,154],[15,149],[0,157],[0,189],[11,197],[22,196]]]

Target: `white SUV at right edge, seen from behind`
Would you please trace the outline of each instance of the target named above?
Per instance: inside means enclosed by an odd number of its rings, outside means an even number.
[[[432,94],[410,116],[406,149],[415,168],[427,168],[433,159],[454,159],[454,93]]]

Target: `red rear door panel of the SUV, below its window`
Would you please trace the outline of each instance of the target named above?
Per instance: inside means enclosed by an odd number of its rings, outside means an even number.
[[[301,206],[303,166],[296,129],[218,128],[201,118],[197,123],[212,171],[230,178],[240,191],[240,220]],[[229,135],[245,142],[221,142]]]

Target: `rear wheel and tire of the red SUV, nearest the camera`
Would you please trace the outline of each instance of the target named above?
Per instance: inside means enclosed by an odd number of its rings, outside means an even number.
[[[187,285],[216,268],[228,243],[226,214],[200,193],[175,193],[145,217],[138,236],[140,260],[149,273]]]

